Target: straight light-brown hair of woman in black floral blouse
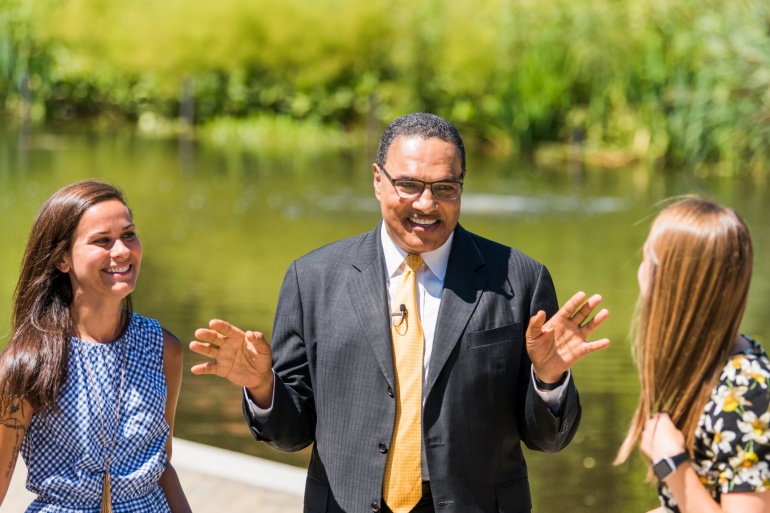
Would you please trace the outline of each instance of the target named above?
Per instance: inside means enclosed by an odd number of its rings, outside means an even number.
[[[641,397],[616,465],[657,412],[670,415],[692,455],[698,421],[738,335],[754,260],[740,216],[696,198],[662,210],[646,244],[650,281],[634,327]]]

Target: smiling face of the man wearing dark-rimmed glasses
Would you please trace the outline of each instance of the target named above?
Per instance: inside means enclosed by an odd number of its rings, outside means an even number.
[[[459,181],[463,175],[457,148],[441,139],[397,137],[386,159],[385,170],[394,180]],[[460,197],[438,200],[431,188],[426,186],[420,196],[403,199],[376,164],[372,169],[374,194],[380,201],[382,218],[390,238],[412,254],[433,251],[444,244],[457,226]]]

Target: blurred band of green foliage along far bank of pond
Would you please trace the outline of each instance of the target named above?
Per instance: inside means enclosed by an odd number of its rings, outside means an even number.
[[[246,133],[255,116],[360,130],[426,110],[502,150],[758,175],[770,159],[766,0],[0,1],[0,98],[16,105],[27,73],[49,119],[187,101]]]

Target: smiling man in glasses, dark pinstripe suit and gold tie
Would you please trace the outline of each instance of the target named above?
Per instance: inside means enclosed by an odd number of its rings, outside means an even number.
[[[257,440],[282,451],[313,444],[306,512],[391,511],[383,482],[408,398],[390,324],[409,315],[393,289],[405,257],[420,255],[422,490],[393,510],[528,512],[521,442],[555,452],[572,439],[580,403],[569,369],[609,344],[586,341],[608,312],[589,320],[601,297],[582,292],[559,310],[542,264],[458,224],[465,148],[446,120],[397,119],[372,169],[382,222],[290,265],[272,347],[213,320],[190,348],[214,361],[193,372],[244,387]]]

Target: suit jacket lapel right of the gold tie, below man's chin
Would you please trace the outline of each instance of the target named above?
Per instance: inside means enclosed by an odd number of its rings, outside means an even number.
[[[484,256],[468,232],[458,225],[444,278],[425,397],[430,395],[481,298],[487,282],[486,276],[479,272],[483,266]]]

